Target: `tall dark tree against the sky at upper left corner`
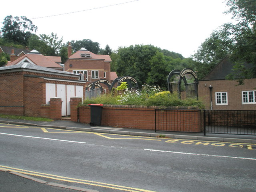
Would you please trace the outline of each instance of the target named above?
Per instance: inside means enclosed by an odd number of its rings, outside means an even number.
[[[24,46],[28,45],[28,39],[31,37],[31,32],[36,32],[37,26],[32,24],[32,21],[21,16],[20,18],[11,15],[6,16],[3,22],[4,26],[1,28],[2,38],[22,44]]]

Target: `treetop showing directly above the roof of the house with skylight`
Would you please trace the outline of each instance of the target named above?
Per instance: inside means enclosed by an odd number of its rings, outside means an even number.
[[[88,51],[90,51],[94,54],[98,54],[98,52],[100,50],[100,44],[98,42],[92,42],[92,40],[90,40],[90,39],[84,39],[82,41],[81,40],[78,40],[78,41],[72,40],[70,42],[70,45],[72,46],[72,49],[74,52],[77,52],[82,47],[86,48]],[[68,43],[66,44],[66,46],[68,46]]]

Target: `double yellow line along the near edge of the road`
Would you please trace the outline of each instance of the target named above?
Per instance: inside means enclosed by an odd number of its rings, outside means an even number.
[[[128,191],[128,192],[155,192],[155,191],[150,191],[150,190],[144,190],[144,189],[138,189],[138,188],[132,188],[132,187],[126,187],[126,186],[119,186],[119,185],[96,182],[96,181],[89,181],[89,180],[82,180],[82,179],[52,175],[52,174],[47,174],[47,173],[40,173],[40,172],[29,171],[29,170],[8,167],[8,166],[2,166],[2,165],[0,165],[0,168],[1,168],[1,170],[18,172],[18,173],[22,173],[25,175],[38,176],[38,177],[49,178],[49,179],[54,179],[54,180],[59,180],[59,181],[80,183],[80,184],[86,184],[86,185],[98,186],[98,187],[104,187],[104,188],[110,188],[110,189],[117,189],[117,190]]]

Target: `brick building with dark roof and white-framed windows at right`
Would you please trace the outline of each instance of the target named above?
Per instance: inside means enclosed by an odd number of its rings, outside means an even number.
[[[225,58],[198,84],[198,96],[206,109],[256,110],[256,78],[245,79],[244,85],[226,80],[233,64]],[[249,66],[248,66],[249,67]]]

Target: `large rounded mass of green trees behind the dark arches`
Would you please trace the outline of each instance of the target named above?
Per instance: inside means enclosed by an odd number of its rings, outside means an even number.
[[[131,45],[120,47],[117,52],[110,55],[112,59],[111,71],[116,71],[118,76],[132,76],[138,84],[159,85],[166,89],[168,74],[174,70],[194,66],[191,58],[182,59],[180,54],[166,56],[160,48],[152,45]]]

